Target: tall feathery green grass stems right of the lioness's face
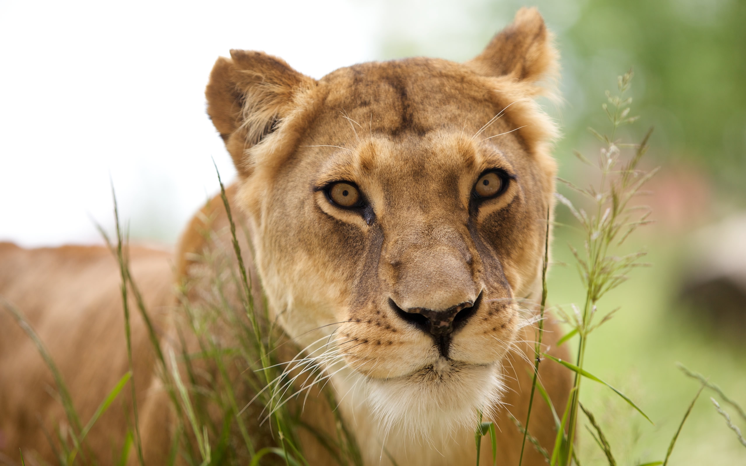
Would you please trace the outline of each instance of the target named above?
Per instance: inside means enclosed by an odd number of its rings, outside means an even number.
[[[661,344],[661,341],[665,337],[671,337],[677,329],[677,325],[681,319],[674,317],[674,311],[669,311],[668,315],[663,315],[662,319],[659,318],[656,321],[652,321],[652,327],[660,333],[660,335],[651,336],[648,332],[644,332],[645,321],[650,321],[651,312],[648,315],[633,315],[632,321],[626,321],[626,328],[618,325],[618,315],[624,314],[624,312],[617,312],[621,309],[620,304],[624,298],[629,299],[630,297],[641,297],[642,300],[645,296],[640,296],[639,289],[636,293],[626,292],[624,295],[617,295],[620,289],[626,288],[621,286],[625,283],[630,275],[636,274],[639,271],[642,264],[639,259],[647,254],[646,251],[640,251],[635,248],[635,245],[629,243],[624,244],[625,240],[630,237],[630,233],[633,233],[639,227],[649,224],[648,215],[650,210],[645,206],[637,206],[636,201],[637,194],[642,188],[642,185],[648,180],[655,172],[643,171],[638,169],[639,161],[642,160],[647,145],[650,140],[651,131],[649,130],[645,137],[642,139],[642,143],[633,145],[625,142],[624,140],[618,139],[618,129],[622,125],[629,125],[636,121],[637,117],[630,117],[630,104],[631,98],[627,98],[624,93],[630,88],[630,82],[632,79],[632,72],[630,71],[624,76],[618,78],[618,95],[612,95],[610,92],[606,92],[607,103],[602,108],[606,113],[606,116],[611,123],[609,133],[598,132],[592,128],[589,128],[591,133],[601,142],[601,154],[598,156],[598,162],[591,162],[589,157],[584,156],[576,151],[575,155],[578,160],[586,164],[587,166],[595,166],[598,170],[598,178],[595,182],[592,182],[589,187],[586,187],[586,183],[572,183],[566,180],[562,181],[565,186],[569,189],[571,195],[571,201],[563,195],[558,195],[560,204],[564,204],[564,207],[571,212],[572,215],[565,213],[565,223],[577,225],[575,227],[567,228],[564,232],[560,233],[560,238],[568,240],[570,243],[567,248],[560,248],[563,254],[557,254],[554,259],[558,258],[565,259],[566,263],[573,264],[574,267],[569,267],[568,270],[563,270],[557,276],[562,277],[562,280],[567,280],[568,277],[575,277],[577,279],[574,283],[562,283],[558,284],[555,280],[547,280],[542,277],[542,303],[540,306],[542,315],[545,308],[545,299],[547,294],[552,296],[552,300],[559,306],[554,307],[555,314],[561,318],[567,325],[565,336],[560,339],[562,344],[568,344],[577,348],[574,353],[574,364],[571,362],[562,361],[554,358],[548,354],[545,354],[548,362],[545,363],[558,363],[565,368],[570,369],[574,372],[574,384],[571,390],[570,400],[565,411],[562,413],[560,420],[559,415],[555,413],[555,431],[557,432],[557,440],[555,441],[554,451],[549,459],[552,466],[554,465],[571,465],[577,464],[595,464],[601,462],[602,464],[608,464],[609,466],[618,465],[618,458],[623,457],[624,462],[630,465],[656,465],[662,464],[668,465],[671,460],[671,455],[674,453],[674,447],[677,445],[677,440],[682,435],[682,432],[686,428],[686,421],[692,411],[695,408],[696,402],[699,398],[701,391],[705,388],[709,388],[718,394],[725,402],[727,402],[736,412],[742,416],[742,421],[746,421],[746,415],[741,408],[739,401],[733,400],[727,397],[720,388],[713,385],[706,377],[691,374],[686,368],[683,368],[683,372],[687,376],[694,379],[698,379],[700,388],[696,392],[695,397],[688,403],[683,418],[677,423],[675,432],[673,435],[662,434],[661,431],[646,432],[646,428],[659,429],[653,424],[651,416],[645,414],[643,409],[648,411],[648,407],[644,406],[641,409],[639,401],[633,402],[632,398],[639,400],[642,396],[636,393],[632,397],[628,397],[624,391],[639,391],[638,385],[632,385],[628,381],[624,381],[623,390],[618,390],[608,382],[601,380],[599,374],[604,374],[604,371],[608,370],[609,366],[614,366],[618,362],[624,360],[624,356],[630,353],[636,353],[636,357],[630,359],[630,362],[636,367],[644,363],[656,361],[657,356],[661,353],[665,353],[666,350],[671,349],[671,344],[663,344],[656,348],[650,348],[644,353],[639,353],[639,350],[643,346],[652,346],[652,344]],[[608,135],[607,135],[608,134]],[[630,154],[625,155],[625,149],[629,150]],[[596,160],[593,157],[592,160]],[[582,187],[581,187],[582,186]],[[560,215],[562,216],[562,215]],[[648,236],[648,240],[651,239]],[[574,247],[573,244],[582,245],[581,247]],[[668,243],[671,245],[671,242]],[[567,251],[570,252],[569,256]],[[560,259],[560,260],[562,260]],[[571,273],[571,269],[575,268],[577,274]],[[569,272],[569,273],[568,273]],[[656,275],[659,277],[660,275]],[[666,277],[676,277],[677,274],[669,273]],[[648,285],[651,283],[656,286],[656,289],[663,288],[662,280],[651,279],[647,282]],[[557,300],[556,295],[552,295],[554,289],[561,289],[560,300]],[[616,293],[615,293],[616,292]],[[606,296],[608,294],[608,296]],[[578,297],[584,296],[584,303],[581,306],[576,306],[574,301]],[[624,298],[623,298],[624,297]],[[562,300],[562,299],[566,300]],[[648,302],[649,304],[649,302]],[[675,307],[675,305],[662,307]],[[636,303],[639,308],[639,303]],[[608,325],[607,323],[615,318],[615,325]],[[675,324],[674,324],[675,322]],[[606,325],[604,325],[606,324]],[[618,333],[608,334],[614,330]],[[619,329],[622,329],[619,332]],[[538,341],[542,340],[542,328],[538,329]],[[597,333],[598,332],[598,333]],[[590,338],[591,333],[594,333],[593,339]],[[641,341],[630,341],[630,336],[642,336]],[[604,338],[605,337],[605,338]],[[662,338],[663,337],[663,338]],[[610,353],[606,353],[603,356],[598,349],[592,349],[589,347],[590,341],[597,341],[601,339],[609,346],[614,346],[614,349]],[[586,359],[587,357],[587,359]],[[593,367],[593,362],[598,362],[598,369]],[[538,360],[536,367],[538,368]],[[535,369],[536,372],[536,369]],[[624,372],[615,371],[613,374],[615,378],[618,378],[620,374]],[[684,374],[679,376],[684,377]],[[598,385],[583,384],[583,390],[581,390],[581,382],[583,379],[593,380],[599,382]],[[623,383],[624,377],[621,378],[620,382]],[[680,380],[680,379],[679,379]],[[671,382],[671,380],[668,380]],[[610,388],[611,391],[603,388]],[[674,382],[674,385],[675,384]],[[642,386],[647,387],[645,382],[642,382]],[[536,377],[534,378],[533,385],[531,388],[531,394],[533,395],[534,388],[536,388]],[[588,390],[590,388],[590,396]],[[601,390],[599,390],[601,388]],[[656,395],[666,397],[668,402],[671,402],[671,387],[660,387],[656,391]],[[618,395],[618,397],[615,397]],[[691,396],[691,395],[690,395]],[[603,403],[598,406],[598,412],[601,412],[604,418],[612,421],[607,421],[611,424],[612,429],[610,435],[604,434],[604,428],[596,420],[595,415],[592,414],[593,409],[587,409],[580,403],[580,398],[586,400],[586,404],[589,400],[603,400]],[[609,398],[610,397],[610,398]],[[619,406],[621,400],[623,400],[622,406]],[[531,402],[533,402],[533,397]],[[525,425],[529,425],[531,402],[528,406],[528,417],[525,421]],[[615,404],[616,403],[616,404]],[[626,403],[626,405],[624,405]],[[724,418],[726,425],[730,428],[735,437],[731,437],[732,440],[739,441],[739,443],[746,446],[746,441],[741,435],[741,431],[736,424],[733,424],[730,415],[724,412],[723,409],[718,405],[716,400],[712,400],[715,406],[716,412]],[[585,418],[580,416],[578,408],[583,412]],[[670,409],[666,413],[666,421],[671,419],[671,410],[675,410],[673,406],[668,406]],[[645,418],[650,425],[641,425],[640,418],[634,412],[630,412],[633,409],[642,418]],[[653,412],[653,411],[648,411]],[[581,432],[583,429],[580,428],[580,424],[586,423],[586,431],[589,433],[589,437],[592,442],[589,441],[588,437],[581,439]],[[621,421],[621,422],[620,422]],[[589,423],[589,424],[588,424]],[[524,432],[524,445],[525,445],[525,432],[529,429],[522,429],[521,425],[518,424],[518,429]],[[478,432],[478,431],[477,431]],[[723,437],[724,433],[722,430],[718,434]],[[665,456],[662,453],[657,453],[651,445],[656,444],[656,447],[666,441],[667,448],[665,449]],[[610,439],[610,440],[609,440]],[[612,443],[616,442],[621,445],[622,455],[615,457],[615,453],[612,453]],[[592,445],[595,444],[595,445]],[[591,448],[589,448],[591,444]],[[688,442],[691,445],[691,442]],[[694,444],[700,444],[700,441]],[[731,442],[733,444],[733,441]],[[647,447],[647,450],[636,450],[640,446]],[[598,449],[595,449],[598,447]],[[477,444],[478,448],[478,444]],[[582,462],[578,461],[575,450],[583,450],[583,454],[578,455],[583,457]],[[603,457],[600,455],[603,454]],[[744,452],[740,452],[744,454]],[[618,453],[617,453],[618,455]],[[523,451],[521,450],[521,459]],[[656,460],[662,458],[661,460]],[[709,462],[717,456],[716,453],[711,453],[709,456]],[[691,456],[690,456],[691,457]],[[520,465],[521,460],[519,460]],[[696,463],[694,463],[696,464]],[[702,462],[701,464],[706,464]]]

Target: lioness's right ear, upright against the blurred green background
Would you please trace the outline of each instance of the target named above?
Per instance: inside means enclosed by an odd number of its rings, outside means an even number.
[[[517,81],[535,82],[554,74],[557,51],[539,11],[522,7],[513,22],[466,65],[484,76],[510,75]]]

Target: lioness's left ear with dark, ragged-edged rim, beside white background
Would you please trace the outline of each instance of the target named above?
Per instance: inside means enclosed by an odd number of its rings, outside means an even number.
[[[259,51],[231,50],[219,57],[205,89],[207,114],[239,174],[250,171],[245,150],[272,133],[292,109],[295,94],[316,81],[284,60]]]

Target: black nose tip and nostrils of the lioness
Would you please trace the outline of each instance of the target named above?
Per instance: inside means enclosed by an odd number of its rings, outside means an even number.
[[[430,333],[438,345],[441,355],[448,356],[451,334],[466,325],[466,321],[477,313],[481,301],[482,293],[477,296],[473,303],[466,301],[443,311],[435,311],[425,307],[410,307],[404,310],[397,306],[391,298],[389,298],[389,306],[402,320],[413,324],[423,332]]]

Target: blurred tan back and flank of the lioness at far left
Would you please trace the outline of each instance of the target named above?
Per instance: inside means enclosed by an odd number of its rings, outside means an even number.
[[[131,248],[132,274],[159,327],[174,306],[171,257],[166,251]],[[129,370],[116,259],[103,247],[26,250],[0,243],[0,296],[21,310],[46,345],[85,424]],[[145,394],[154,354],[140,316],[133,312],[131,317],[135,381],[137,392]],[[56,390],[34,342],[2,309],[0,463],[13,459],[9,464],[16,464],[19,447],[26,464],[34,464],[37,455],[55,461],[50,439],[66,422],[63,406],[52,395]],[[125,438],[119,401],[129,403],[131,397],[127,390],[120,397],[87,439],[104,463],[113,461]]]

